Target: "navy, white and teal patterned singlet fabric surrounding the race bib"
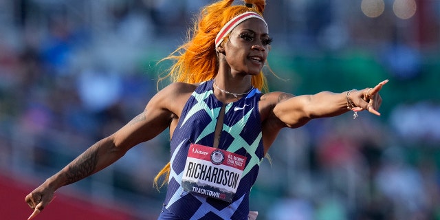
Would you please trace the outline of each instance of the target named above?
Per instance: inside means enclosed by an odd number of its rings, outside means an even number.
[[[247,157],[232,202],[186,192],[181,179],[190,144],[212,146],[222,102],[214,96],[213,80],[201,83],[186,102],[170,142],[170,177],[164,209],[159,219],[248,219],[249,193],[263,159],[259,100],[252,89],[225,106],[219,148]],[[166,213],[164,213],[166,212]],[[168,218],[168,217],[170,218]]]

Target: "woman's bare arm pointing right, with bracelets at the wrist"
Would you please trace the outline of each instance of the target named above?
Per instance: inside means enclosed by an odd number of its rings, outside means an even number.
[[[379,91],[386,83],[388,80],[373,88],[353,89],[340,94],[322,91],[315,95],[293,96],[276,104],[274,115],[290,128],[303,126],[314,118],[332,117],[350,110],[355,114],[367,110],[380,115],[377,111],[382,104]]]

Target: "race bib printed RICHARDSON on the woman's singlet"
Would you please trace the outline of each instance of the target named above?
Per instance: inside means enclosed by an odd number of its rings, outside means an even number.
[[[190,144],[181,186],[187,192],[231,202],[245,164],[245,156]]]

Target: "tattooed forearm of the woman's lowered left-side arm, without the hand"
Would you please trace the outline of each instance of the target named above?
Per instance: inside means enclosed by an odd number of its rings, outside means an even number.
[[[50,188],[54,188],[54,190],[61,186],[73,184],[113,164],[124,153],[124,151],[119,151],[114,146],[109,137],[104,138],[89,147],[87,151],[76,157],[65,168],[47,179],[45,184]]]

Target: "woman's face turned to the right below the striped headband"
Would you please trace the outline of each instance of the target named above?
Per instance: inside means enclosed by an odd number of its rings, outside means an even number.
[[[223,45],[231,72],[259,74],[271,41],[266,24],[260,19],[248,19],[237,25]]]

